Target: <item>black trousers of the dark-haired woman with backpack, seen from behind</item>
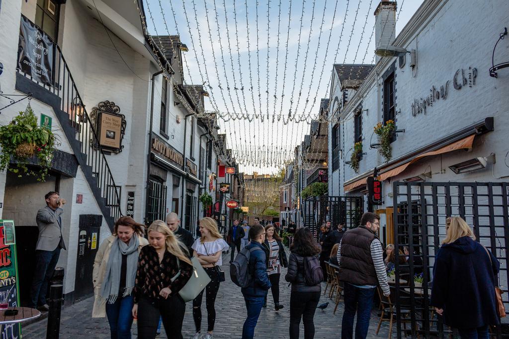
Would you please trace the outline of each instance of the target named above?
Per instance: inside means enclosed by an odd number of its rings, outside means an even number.
[[[299,339],[299,325],[302,317],[304,339],[315,337],[315,310],[320,301],[320,291],[292,292],[290,294],[290,339]]]

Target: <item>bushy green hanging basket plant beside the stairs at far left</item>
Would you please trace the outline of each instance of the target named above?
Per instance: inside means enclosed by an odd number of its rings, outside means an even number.
[[[33,175],[38,181],[44,181],[51,167],[56,137],[51,130],[37,125],[37,116],[30,105],[19,112],[9,125],[0,127],[0,171],[9,169],[21,177],[21,173]],[[35,156],[41,170],[34,171],[27,165]],[[9,166],[11,157],[16,166]]]

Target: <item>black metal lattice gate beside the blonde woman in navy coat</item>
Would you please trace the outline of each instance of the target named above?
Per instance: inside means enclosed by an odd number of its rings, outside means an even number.
[[[445,220],[459,216],[474,230],[477,241],[484,244],[500,261],[499,286],[505,307],[509,254],[509,184],[506,182],[394,182],[395,253],[409,248],[405,264],[396,260],[395,302],[398,338],[443,337],[451,329],[430,307],[435,254],[445,238]],[[420,263],[422,262],[422,264]],[[422,272],[422,288],[415,287],[414,276]],[[408,287],[400,286],[400,279]],[[401,284],[402,285],[402,284]],[[502,287],[503,286],[503,287]],[[402,319],[411,320],[406,326]],[[406,328],[404,330],[403,328]],[[500,328],[497,329],[500,335]]]

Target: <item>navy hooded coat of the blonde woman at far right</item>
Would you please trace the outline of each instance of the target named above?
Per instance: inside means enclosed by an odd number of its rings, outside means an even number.
[[[491,262],[490,262],[491,257]],[[430,305],[443,308],[444,323],[455,328],[499,324],[495,275],[500,263],[468,236],[443,244],[435,257]]]

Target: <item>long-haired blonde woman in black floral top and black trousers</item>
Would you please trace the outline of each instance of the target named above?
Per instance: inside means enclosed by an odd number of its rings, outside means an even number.
[[[149,246],[139,254],[134,306],[138,318],[138,338],[156,337],[159,318],[168,338],[182,338],[186,304],[179,291],[191,278],[192,263],[187,248],[162,220],[148,229]]]

